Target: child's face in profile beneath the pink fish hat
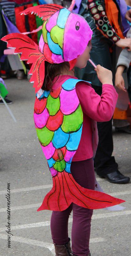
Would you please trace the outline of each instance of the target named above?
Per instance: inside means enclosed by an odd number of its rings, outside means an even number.
[[[85,68],[87,64],[87,60],[90,59],[90,51],[92,48],[91,40],[88,42],[85,51],[77,58],[76,67]]]

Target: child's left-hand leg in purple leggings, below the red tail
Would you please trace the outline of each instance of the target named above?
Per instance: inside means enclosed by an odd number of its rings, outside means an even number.
[[[52,211],[51,233],[54,244],[63,245],[69,241],[68,219],[72,211],[72,204],[65,211]]]

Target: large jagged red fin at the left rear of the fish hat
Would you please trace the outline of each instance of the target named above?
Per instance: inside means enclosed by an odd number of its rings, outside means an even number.
[[[1,38],[7,43],[8,48],[15,48],[14,53],[21,53],[20,60],[28,60],[27,63],[32,63],[29,74],[32,74],[30,82],[34,81],[33,87],[35,92],[43,85],[45,57],[39,51],[38,45],[28,36],[20,33],[12,33]]]

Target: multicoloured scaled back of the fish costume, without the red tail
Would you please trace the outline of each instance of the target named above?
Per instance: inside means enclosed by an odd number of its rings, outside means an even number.
[[[52,177],[70,171],[82,133],[83,113],[75,90],[76,79],[68,79],[53,92],[35,99],[34,123]]]

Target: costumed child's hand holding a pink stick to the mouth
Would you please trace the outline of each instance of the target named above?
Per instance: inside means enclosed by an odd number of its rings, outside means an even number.
[[[95,68],[98,79],[102,84],[112,84],[112,72],[107,68],[103,68],[100,65],[97,65]]]

